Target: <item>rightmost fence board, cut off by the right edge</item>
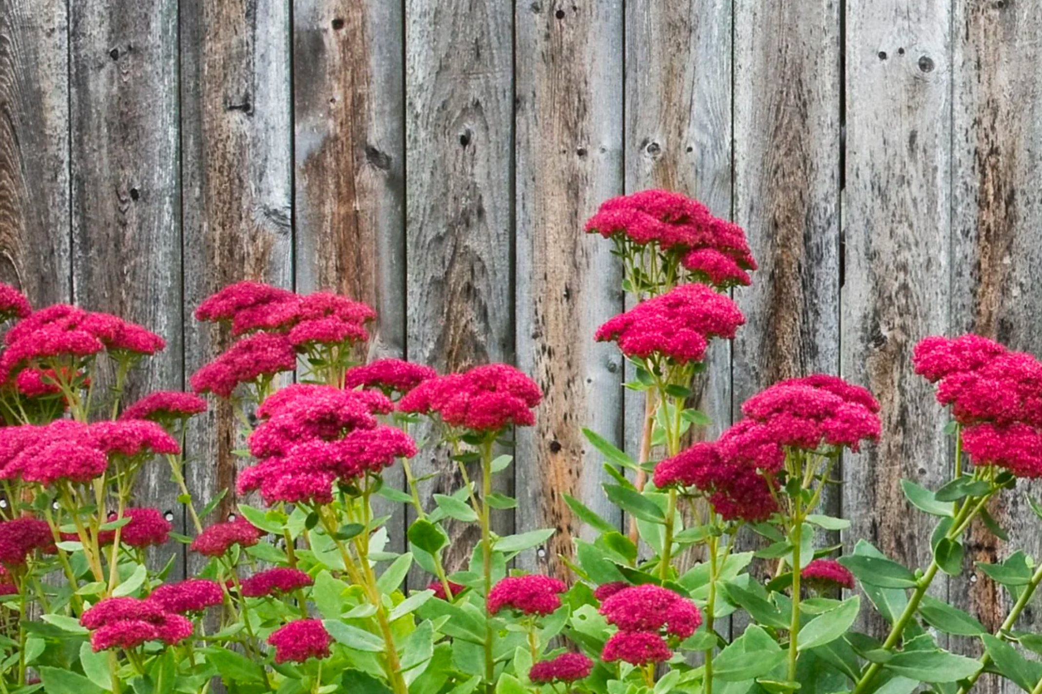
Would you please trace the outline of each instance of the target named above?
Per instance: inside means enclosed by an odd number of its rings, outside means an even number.
[[[1029,3],[956,3],[952,33],[952,335],[974,332],[1013,350],[1042,354],[1042,202],[1031,191],[1042,164],[1042,7]],[[950,598],[992,628],[1010,608],[1004,592],[973,571],[973,561],[1002,561],[1014,548],[1039,556],[1039,525],[1019,484],[991,506],[1009,542],[974,526],[964,576]],[[1018,628],[1037,631],[1028,611]],[[975,646],[975,644],[973,644]],[[989,675],[990,676],[990,675]],[[1013,692],[1009,680],[982,679],[977,691]]]

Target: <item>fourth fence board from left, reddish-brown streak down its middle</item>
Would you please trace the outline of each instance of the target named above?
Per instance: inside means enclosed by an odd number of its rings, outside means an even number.
[[[293,11],[297,290],[373,306],[370,354],[405,348],[404,94],[400,3],[298,0]],[[398,466],[384,484],[404,485]],[[387,504],[391,548],[405,510]]]

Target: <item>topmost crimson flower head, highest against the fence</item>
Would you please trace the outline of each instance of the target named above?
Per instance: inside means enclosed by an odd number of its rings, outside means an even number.
[[[587,222],[588,233],[679,254],[695,279],[718,287],[748,285],[756,268],[741,227],[713,216],[696,200],[669,190],[612,198]]]

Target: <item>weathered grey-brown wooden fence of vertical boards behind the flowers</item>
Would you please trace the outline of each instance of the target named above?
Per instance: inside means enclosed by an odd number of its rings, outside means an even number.
[[[761,263],[713,355],[716,428],[783,377],[868,386],[885,435],[844,461],[845,538],[922,562],[898,479],[936,484],[949,458],[912,345],[1042,351],[1039,31],[1021,0],[2,0],[0,279],[165,334],[139,391],[225,342],[191,311],[241,278],[370,302],[379,354],[516,362],[547,394],[503,522],[574,531],[562,492],[610,513],[579,426],[632,445],[640,417],[591,339],[622,297],[581,225],[684,190]],[[222,408],[195,429],[200,495],[230,483],[233,429]],[[1038,552],[1009,499],[993,514]],[[993,623],[977,577],[945,590]]]

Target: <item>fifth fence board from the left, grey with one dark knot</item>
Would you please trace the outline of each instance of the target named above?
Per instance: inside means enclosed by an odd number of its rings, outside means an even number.
[[[440,371],[513,359],[511,18],[506,0],[405,2],[407,355]],[[438,473],[428,504],[461,484],[444,451],[414,466]],[[447,568],[476,532],[452,531]]]

